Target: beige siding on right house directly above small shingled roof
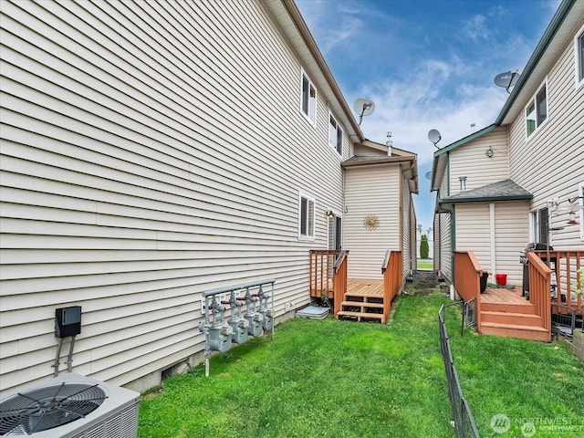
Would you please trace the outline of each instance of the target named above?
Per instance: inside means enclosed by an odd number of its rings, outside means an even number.
[[[493,150],[492,158],[486,156],[489,148]],[[450,195],[460,193],[461,176],[466,177],[466,190],[506,180],[509,177],[506,127],[497,128],[451,151],[449,162]]]

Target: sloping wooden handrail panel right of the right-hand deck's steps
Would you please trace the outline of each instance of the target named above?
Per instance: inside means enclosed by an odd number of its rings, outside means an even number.
[[[529,262],[529,300],[536,307],[536,315],[541,317],[541,326],[551,339],[551,288],[552,270],[533,251],[527,252]]]

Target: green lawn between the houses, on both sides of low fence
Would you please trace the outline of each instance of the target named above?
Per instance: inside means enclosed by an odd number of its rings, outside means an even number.
[[[274,341],[214,356],[209,378],[198,366],[145,394],[139,436],[452,437],[437,324],[446,302],[438,293],[400,297],[387,326],[289,320]],[[563,347],[460,337],[460,315],[449,310],[454,363],[481,436],[492,436],[495,413],[512,422],[584,418],[584,366]],[[512,427],[501,436],[522,436]]]

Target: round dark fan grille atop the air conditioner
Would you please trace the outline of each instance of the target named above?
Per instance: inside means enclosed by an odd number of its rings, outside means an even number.
[[[0,403],[0,434],[30,434],[75,422],[98,409],[105,399],[98,385],[84,383],[19,392]]]

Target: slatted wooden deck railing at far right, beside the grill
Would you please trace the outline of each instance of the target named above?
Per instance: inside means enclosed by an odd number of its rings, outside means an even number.
[[[572,308],[584,308],[584,299],[581,295],[575,294],[573,285],[579,280],[578,270],[584,266],[584,251],[534,251],[542,260],[554,260],[556,262],[556,297],[558,304]],[[529,291],[531,292],[531,278]],[[549,290],[549,289],[547,289]]]

